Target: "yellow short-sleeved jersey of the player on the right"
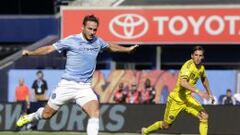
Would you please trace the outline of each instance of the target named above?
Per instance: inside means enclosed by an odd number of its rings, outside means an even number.
[[[179,71],[178,79],[175,88],[170,93],[170,97],[177,101],[184,101],[187,99],[187,96],[191,95],[191,91],[185,89],[180,85],[181,79],[186,79],[187,82],[194,86],[199,78],[205,78],[205,67],[203,65],[199,65],[198,67],[194,64],[193,60],[190,59],[186,61]]]

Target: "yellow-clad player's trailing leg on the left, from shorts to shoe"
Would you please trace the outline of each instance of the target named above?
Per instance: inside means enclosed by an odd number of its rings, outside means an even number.
[[[179,112],[181,112],[181,110],[184,107],[185,107],[184,104],[182,104],[182,103],[179,104],[178,102],[173,100],[171,97],[168,97],[163,121],[157,121],[157,122],[153,123],[152,125],[148,126],[147,128],[142,128],[142,134],[147,135],[158,129],[168,129],[169,126],[176,119]]]

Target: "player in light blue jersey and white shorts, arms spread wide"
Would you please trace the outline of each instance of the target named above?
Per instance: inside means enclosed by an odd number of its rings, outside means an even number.
[[[71,35],[53,45],[40,47],[34,51],[22,51],[23,56],[46,55],[55,50],[60,53],[66,51],[67,61],[62,79],[47,105],[32,114],[21,116],[16,123],[18,127],[36,120],[50,119],[63,104],[75,100],[89,116],[87,134],[98,134],[99,101],[91,89],[97,55],[105,48],[113,52],[131,52],[138,47],[138,45],[123,47],[105,42],[96,36],[98,26],[98,18],[94,15],[85,16],[80,34]]]

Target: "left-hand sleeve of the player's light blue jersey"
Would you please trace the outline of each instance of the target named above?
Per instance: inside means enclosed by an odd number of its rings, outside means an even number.
[[[70,38],[65,38],[57,41],[56,43],[53,44],[53,46],[59,53],[62,53],[62,51],[70,49],[70,45],[72,44],[71,42],[72,41]]]

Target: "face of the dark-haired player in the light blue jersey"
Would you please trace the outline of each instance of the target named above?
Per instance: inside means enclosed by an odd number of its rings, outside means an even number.
[[[86,25],[83,26],[83,36],[86,40],[90,41],[94,38],[97,33],[98,24],[93,21],[88,21]]]

